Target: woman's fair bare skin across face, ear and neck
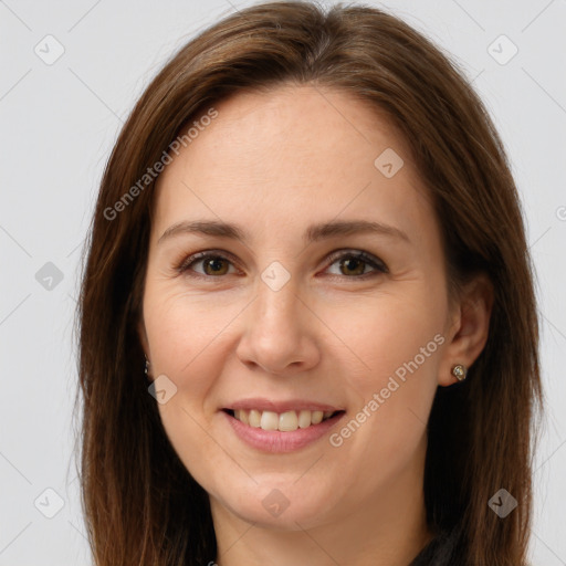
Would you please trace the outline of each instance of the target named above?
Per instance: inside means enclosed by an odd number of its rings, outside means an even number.
[[[150,376],[177,387],[159,405],[165,430],[210,495],[219,547],[210,560],[406,566],[433,535],[422,483],[434,392],[455,382],[453,365],[469,367],[481,353],[491,287],[478,276],[449,303],[430,199],[403,139],[375,108],[311,86],[214,107],[218,117],[158,179],[139,326]],[[374,165],[387,148],[405,161],[391,178]],[[178,233],[158,243],[196,219],[237,223],[250,240]],[[409,241],[365,233],[303,242],[311,223],[334,219],[382,222]],[[221,275],[205,261],[176,270],[207,250],[229,254]],[[388,272],[340,268],[339,258],[328,261],[337,250],[364,250]],[[261,279],[274,261],[290,274],[276,292]],[[346,410],[331,432],[339,431],[436,335],[436,352],[339,447],[328,434],[265,453],[219,411],[247,397],[314,399]],[[289,501],[279,516],[262,505],[273,489]]]

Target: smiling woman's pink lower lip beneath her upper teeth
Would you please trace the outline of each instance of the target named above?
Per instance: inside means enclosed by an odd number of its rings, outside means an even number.
[[[232,430],[249,446],[263,450],[264,452],[293,452],[300,450],[323,437],[336,422],[338,422],[345,412],[340,412],[331,419],[326,419],[318,424],[311,424],[306,429],[296,429],[290,432],[280,430],[263,430],[261,428],[250,427],[232,417],[226,411],[220,411],[228,419]]]

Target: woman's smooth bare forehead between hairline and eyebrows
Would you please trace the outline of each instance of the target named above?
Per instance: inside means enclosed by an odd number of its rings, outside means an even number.
[[[276,230],[338,214],[397,217],[415,232],[431,214],[402,137],[348,93],[287,86],[238,93],[214,109],[158,179],[161,232],[187,217]]]

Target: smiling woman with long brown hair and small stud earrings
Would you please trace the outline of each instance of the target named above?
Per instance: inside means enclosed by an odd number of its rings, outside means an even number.
[[[265,3],[182,48],[107,164],[80,316],[98,566],[526,563],[517,192],[398,19]]]

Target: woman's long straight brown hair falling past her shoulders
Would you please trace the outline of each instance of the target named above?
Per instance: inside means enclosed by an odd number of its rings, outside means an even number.
[[[106,165],[78,311],[82,503],[95,564],[217,557],[208,495],[170,446],[144,378],[136,328],[155,181],[139,180],[214,102],[283,84],[337,88],[385,112],[432,197],[450,289],[479,271],[491,279],[485,348],[467,381],[438,389],[430,415],[427,515],[460,533],[459,566],[525,564],[543,397],[533,268],[503,145],[461,72],[420,33],[376,8],[311,2],[240,10],[180,49]],[[488,505],[502,488],[518,502],[505,518]]]

